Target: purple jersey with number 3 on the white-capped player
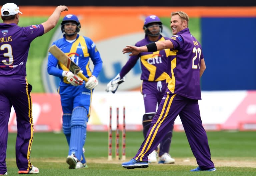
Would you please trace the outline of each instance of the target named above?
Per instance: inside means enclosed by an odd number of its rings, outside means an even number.
[[[19,27],[0,23],[0,75],[26,76],[30,43],[44,34],[42,25]]]

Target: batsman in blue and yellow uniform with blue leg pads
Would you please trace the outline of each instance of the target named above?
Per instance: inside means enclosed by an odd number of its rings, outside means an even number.
[[[69,14],[61,22],[63,38],[55,41],[72,61],[74,61],[89,78],[85,83],[78,75],[63,70],[63,65],[51,54],[48,56],[48,73],[60,78],[58,93],[63,111],[62,129],[66,136],[69,152],[66,162],[69,169],[86,168],[83,146],[86,139],[86,127],[90,117],[93,89],[98,85],[97,76],[102,69],[102,60],[95,43],[88,37],[78,34],[81,24],[77,16]],[[93,62],[91,71],[89,61]]]

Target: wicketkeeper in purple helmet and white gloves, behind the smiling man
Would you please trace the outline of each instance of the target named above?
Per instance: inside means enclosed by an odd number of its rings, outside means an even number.
[[[150,44],[156,41],[165,41],[169,38],[163,37],[160,32],[162,32],[162,22],[159,17],[155,15],[150,15],[145,18],[143,30],[145,32],[145,38],[137,42],[135,46],[144,46],[145,44]],[[152,122],[152,118],[155,115],[156,109],[160,104],[165,90],[167,88],[166,76],[167,76],[167,57],[170,50],[162,50],[156,52],[142,52],[138,55],[133,55],[129,58],[127,63],[123,66],[120,73],[112,79],[106,88],[106,91],[115,91],[118,85],[122,83],[125,78],[124,76],[134,67],[137,60],[140,58],[141,64],[141,93],[144,99],[145,114],[143,115],[142,125],[143,125],[143,135],[144,138],[147,135],[149,127]],[[174,163],[175,160],[169,155],[170,143],[172,138],[173,124],[170,129],[166,130],[163,140],[160,142],[159,154],[157,153],[157,146],[148,155],[148,162],[157,162],[157,156],[159,155],[158,163]]]

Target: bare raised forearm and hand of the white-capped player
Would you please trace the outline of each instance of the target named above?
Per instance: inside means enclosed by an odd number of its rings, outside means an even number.
[[[48,18],[46,22],[43,22],[42,25],[44,27],[44,34],[53,29],[60,19],[60,14],[63,11],[68,11],[67,6],[58,6],[52,13],[52,15]]]

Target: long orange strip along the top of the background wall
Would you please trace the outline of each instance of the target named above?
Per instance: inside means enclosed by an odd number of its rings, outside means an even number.
[[[49,16],[56,7],[53,6],[20,6],[24,16]],[[94,7],[94,6],[72,6],[68,7],[70,14],[83,14],[88,16],[99,16],[102,22],[105,15],[114,16],[138,16],[141,14],[157,16],[170,16],[171,12],[184,11],[189,17],[256,17],[256,7]],[[66,14],[64,13],[64,14]],[[93,14],[93,15],[92,15]]]

